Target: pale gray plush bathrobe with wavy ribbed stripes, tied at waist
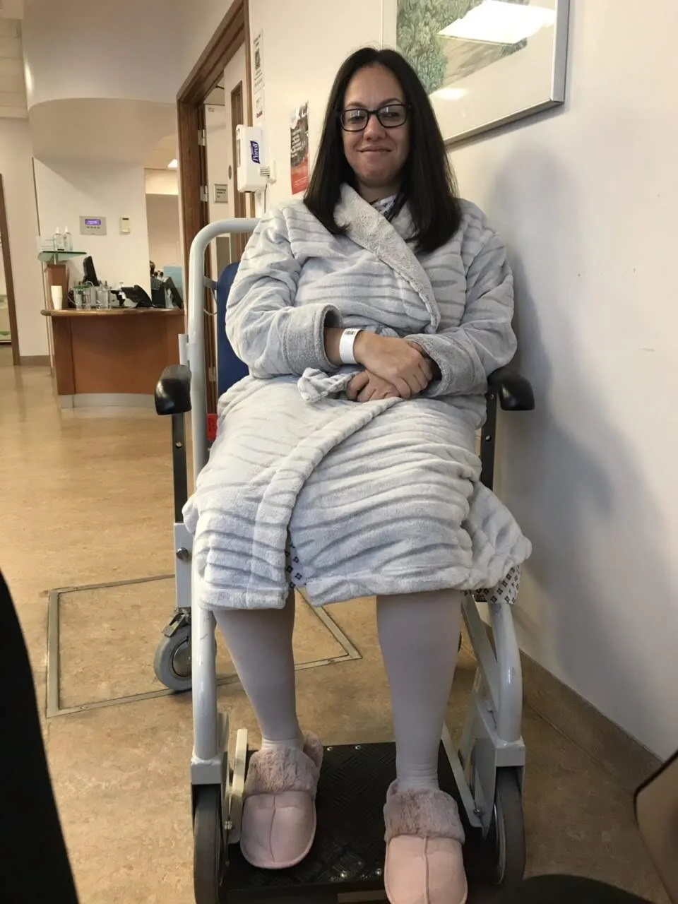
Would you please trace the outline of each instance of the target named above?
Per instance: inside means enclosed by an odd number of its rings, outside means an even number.
[[[478,208],[415,256],[344,185],[332,236],[303,203],[259,222],[231,288],[226,332],[250,376],[219,402],[219,435],[184,509],[199,605],[282,607],[294,544],[314,605],[377,594],[494,588],[530,554],[480,484],[487,375],[513,358],[513,278]],[[358,403],[325,326],[415,340],[440,379],[412,400]]]

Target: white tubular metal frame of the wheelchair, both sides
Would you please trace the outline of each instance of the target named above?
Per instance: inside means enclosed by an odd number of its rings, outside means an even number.
[[[256,220],[224,220],[211,223],[195,236],[191,245],[188,276],[188,336],[180,341],[181,362],[191,368],[193,472],[200,474],[207,462],[203,293],[203,262],[210,242],[217,236],[251,232]],[[192,541],[184,525],[175,525],[175,542],[190,553]],[[194,562],[177,559],[177,606],[191,606]],[[494,649],[476,600],[468,596],[464,604],[466,629],[476,652],[477,671],[462,739],[457,748],[447,726],[443,745],[457,781],[471,825],[489,830],[494,809],[496,770],[511,767],[521,783],[525,747],[521,735],[523,717],[523,675],[520,652],[513,626],[511,607],[489,607]],[[212,613],[195,607],[191,619],[193,757],[191,779],[196,785],[220,785],[224,789],[224,818],[229,843],[240,837],[240,813],[244,786],[247,732],[237,736],[231,769],[228,758],[228,718],[218,711],[215,622]]]

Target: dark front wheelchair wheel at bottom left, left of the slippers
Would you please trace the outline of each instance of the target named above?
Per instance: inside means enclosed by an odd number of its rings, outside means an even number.
[[[193,891],[195,904],[220,904],[226,871],[221,786],[195,788],[193,813]]]

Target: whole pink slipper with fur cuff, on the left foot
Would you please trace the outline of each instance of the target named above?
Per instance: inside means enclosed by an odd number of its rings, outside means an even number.
[[[315,838],[315,792],[323,745],[313,734],[304,749],[259,750],[245,780],[240,850],[262,870],[285,870],[304,860]]]

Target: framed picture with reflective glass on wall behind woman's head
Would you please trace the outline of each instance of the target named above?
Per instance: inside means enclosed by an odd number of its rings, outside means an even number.
[[[570,0],[396,0],[395,42],[448,145],[565,100]]]

